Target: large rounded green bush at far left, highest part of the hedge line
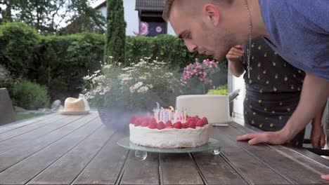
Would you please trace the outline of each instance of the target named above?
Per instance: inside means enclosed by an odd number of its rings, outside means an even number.
[[[0,26],[0,64],[15,76],[34,78],[37,71],[39,34],[22,22]]]

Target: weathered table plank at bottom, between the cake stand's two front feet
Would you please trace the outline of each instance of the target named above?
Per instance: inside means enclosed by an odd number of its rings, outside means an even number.
[[[189,153],[161,153],[163,184],[204,184]]]

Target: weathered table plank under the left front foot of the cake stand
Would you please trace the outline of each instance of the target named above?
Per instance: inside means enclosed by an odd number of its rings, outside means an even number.
[[[135,158],[135,151],[130,151],[120,184],[160,184],[159,154],[148,153],[146,160],[142,161]]]

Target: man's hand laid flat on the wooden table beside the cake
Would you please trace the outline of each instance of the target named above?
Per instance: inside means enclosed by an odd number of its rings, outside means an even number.
[[[280,130],[278,132],[261,132],[242,135],[237,137],[236,140],[243,141],[250,139],[248,144],[259,144],[263,142],[269,144],[284,144],[290,139],[288,136],[288,133]]]

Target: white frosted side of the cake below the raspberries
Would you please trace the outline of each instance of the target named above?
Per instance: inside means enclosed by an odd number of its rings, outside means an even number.
[[[129,124],[129,139],[134,144],[159,148],[196,147],[207,144],[210,127],[207,124],[196,128],[157,130]]]

